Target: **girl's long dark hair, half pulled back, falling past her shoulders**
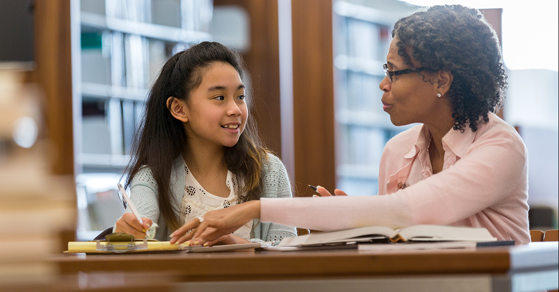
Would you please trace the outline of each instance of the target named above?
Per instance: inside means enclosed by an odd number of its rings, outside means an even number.
[[[187,149],[188,142],[182,122],[169,112],[167,99],[176,97],[188,103],[192,90],[202,83],[203,69],[215,62],[230,64],[243,79],[244,66],[240,56],[217,42],[201,42],[173,55],[149,92],[139,131],[132,141],[132,159],[125,170],[126,188],[130,187],[138,171],[149,167],[158,187],[160,213],[173,230],[182,223],[178,217],[178,202],[174,202],[170,193],[171,169],[173,162]],[[251,104],[248,102],[249,107]],[[239,141],[226,147],[224,155],[228,170],[242,185],[239,203],[259,199],[262,160],[266,157],[267,150],[262,146],[256,123],[249,115]]]

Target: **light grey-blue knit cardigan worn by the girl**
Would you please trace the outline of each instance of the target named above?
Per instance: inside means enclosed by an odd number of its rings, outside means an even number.
[[[291,197],[290,180],[281,160],[274,155],[268,154],[268,158],[262,162],[263,190],[260,198]],[[173,195],[174,203],[182,203],[185,177],[184,160],[181,156],[175,160],[170,176],[170,192]],[[167,227],[163,215],[159,213],[157,183],[155,183],[149,167],[144,167],[134,175],[130,186],[130,193],[130,199],[136,209],[138,209],[140,216],[150,218],[159,225],[157,232],[154,232],[154,227],[150,228],[150,237],[159,241],[169,241],[169,235],[172,233],[172,230]],[[176,207],[181,209],[180,205]],[[130,208],[126,208],[126,212],[131,212]],[[155,236],[153,233],[155,233]],[[259,219],[254,219],[252,231],[250,232],[250,241],[273,241],[274,245],[277,245],[284,237],[293,236],[297,236],[295,227],[275,223],[262,223],[259,222]]]

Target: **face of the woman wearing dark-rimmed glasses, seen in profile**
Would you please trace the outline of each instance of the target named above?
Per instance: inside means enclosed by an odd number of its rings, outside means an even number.
[[[404,63],[404,59],[398,55],[394,37],[390,43],[389,53],[386,56],[386,64],[389,71],[397,71],[411,68]],[[408,50],[410,54],[410,50]],[[419,62],[411,58],[413,68],[420,68]],[[440,114],[440,106],[443,98],[437,97],[437,82],[430,82],[433,73],[428,71],[414,72],[392,76],[392,82],[385,76],[380,84],[382,94],[382,105],[385,112],[390,114],[390,121],[395,126],[409,125],[410,123],[429,123]]]

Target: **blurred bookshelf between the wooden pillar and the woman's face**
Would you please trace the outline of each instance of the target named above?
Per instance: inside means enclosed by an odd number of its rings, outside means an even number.
[[[378,84],[384,78],[392,25],[414,7],[361,2],[333,2],[336,185],[348,194],[374,195],[386,142],[413,126],[392,125],[382,111]]]

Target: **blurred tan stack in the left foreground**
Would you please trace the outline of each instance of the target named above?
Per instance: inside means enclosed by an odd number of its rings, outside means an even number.
[[[46,257],[75,228],[73,177],[50,173],[40,91],[21,76],[0,70],[0,284],[51,280],[58,271]]]

